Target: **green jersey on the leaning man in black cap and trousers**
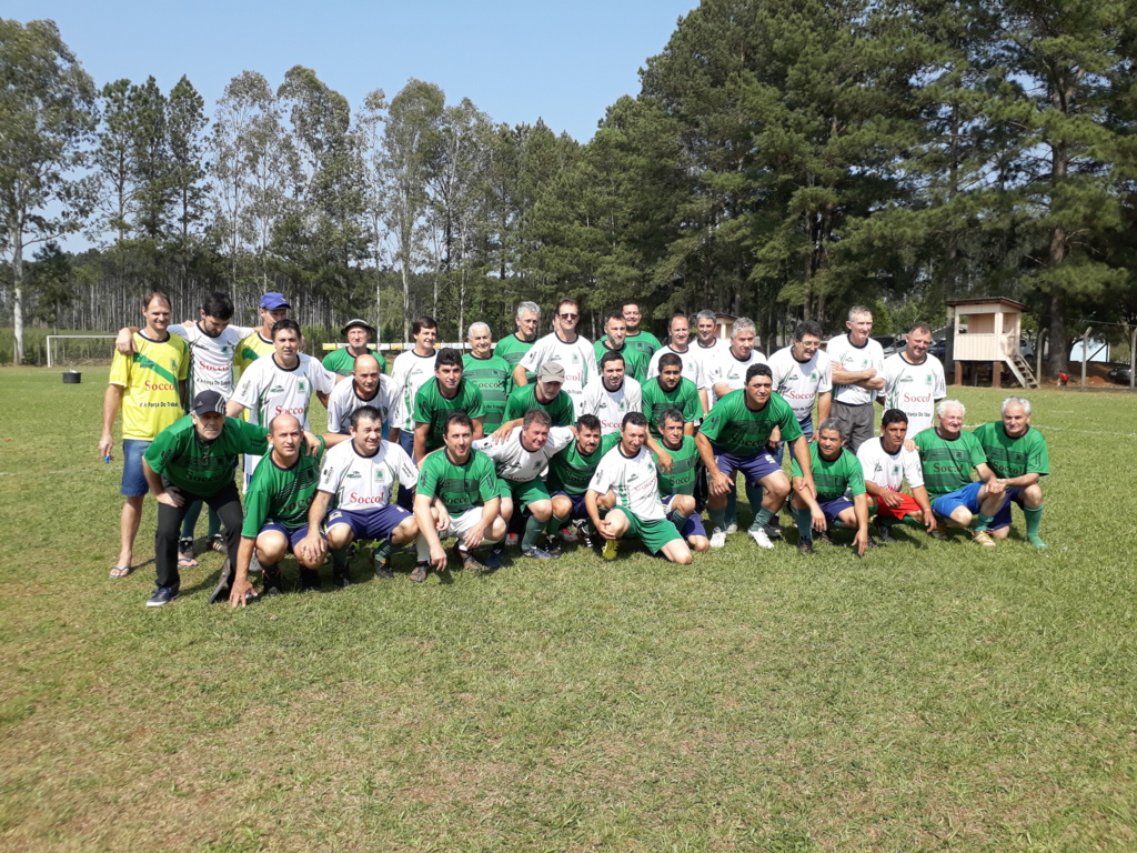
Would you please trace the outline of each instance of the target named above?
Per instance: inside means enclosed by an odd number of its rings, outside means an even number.
[[[238,456],[263,456],[267,449],[264,426],[226,417],[221,434],[207,442],[185,415],[158,433],[143,458],[179,489],[208,497],[233,482]]]

